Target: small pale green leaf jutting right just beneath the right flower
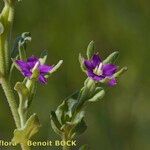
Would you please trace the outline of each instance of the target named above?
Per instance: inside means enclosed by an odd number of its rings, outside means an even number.
[[[105,90],[103,88],[96,88],[96,93],[92,98],[90,98],[89,102],[97,102],[105,96]]]

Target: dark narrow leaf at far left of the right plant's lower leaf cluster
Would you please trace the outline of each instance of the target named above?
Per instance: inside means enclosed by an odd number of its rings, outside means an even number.
[[[51,111],[51,126],[55,133],[61,135],[61,124],[58,121],[58,118],[56,116],[56,113],[54,111]]]

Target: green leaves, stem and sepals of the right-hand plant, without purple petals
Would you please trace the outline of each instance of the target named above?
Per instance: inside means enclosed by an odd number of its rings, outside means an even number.
[[[118,52],[110,54],[103,63],[114,63],[118,58]],[[91,59],[94,55],[94,42],[91,41],[87,48],[87,59]],[[85,71],[84,58],[79,54],[79,62],[82,71]],[[118,71],[114,77],[119,77],[126,69],[123,68]],[[107,83],[110,79],[106,78],[102,82]],[[87,125],[85,123],[84,106],[87,102],[97,102],[105,96],[105,89],[101,82],[87,78],[84,86],[79,92],[67,97],[56,109],[51,112],[51,125],[53,130],[61,137],[65,135],[67,139],[73,139],[83,134]],[[86,150],[87,147],[83,146],[80,150]]]

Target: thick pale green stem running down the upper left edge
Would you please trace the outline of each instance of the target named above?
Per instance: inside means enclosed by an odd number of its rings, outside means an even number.
[[[5,0],[4,3],[5,6],[0,14],[0,22],[4,27],[4,32],[0,35],[0,71],[6,77],[9,75],[10,67],[9,40],[14,20],[14,2]]]

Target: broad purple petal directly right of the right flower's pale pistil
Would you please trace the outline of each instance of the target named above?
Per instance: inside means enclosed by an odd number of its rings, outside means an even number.
[[[117,66],[113,64],[103,65],[103,75],[112,76],[117,71]]]

